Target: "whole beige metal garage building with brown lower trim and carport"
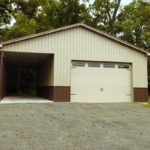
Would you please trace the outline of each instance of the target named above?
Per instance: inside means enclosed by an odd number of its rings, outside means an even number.
[[[148,52],[85,24],[0,46],[0,98],[7,64],[38,66],[37,95],[66,102],[148,100]]]

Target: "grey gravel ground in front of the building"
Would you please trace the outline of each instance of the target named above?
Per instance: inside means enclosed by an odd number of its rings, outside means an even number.
[[[139,104],[1,104],[0,150],[149,150]]]

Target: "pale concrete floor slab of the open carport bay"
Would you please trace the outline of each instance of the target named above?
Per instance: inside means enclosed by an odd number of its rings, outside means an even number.
[[[12,104],[12,103],[49,103],[53,102],[48,99],[36,96],[6,96],[0,102],[0,104]]]

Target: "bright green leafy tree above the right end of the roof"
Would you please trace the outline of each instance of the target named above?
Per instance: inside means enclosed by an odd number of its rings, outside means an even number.
[[[147,15],[150,13],[147,9],[150,11],[149,3],[141,0],[133,0],[132,3],[122,9],[117,23],[118,35],[122,40],[139,47],[149,47],[148,28],[150,22]]]

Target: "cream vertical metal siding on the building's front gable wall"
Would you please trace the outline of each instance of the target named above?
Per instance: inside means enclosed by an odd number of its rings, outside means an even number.
[[[144,54],[81,27],[8,44],[3,50],[54,53],[55,86],[70,86],[71,60],[94,60],[132,62],[133,87],[147,87]]]

